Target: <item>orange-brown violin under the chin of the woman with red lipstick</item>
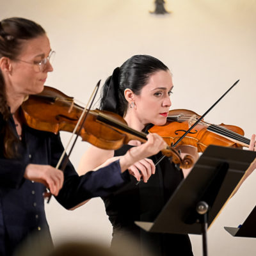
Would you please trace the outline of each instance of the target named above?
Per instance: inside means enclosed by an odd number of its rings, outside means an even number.
[[[159,134],[170,146],[176,143],[201,116],[188,109],[173,109],[169,111],[165,125],[154,125],[149,132]],[[209,145],[223,147],[249,147],[250,140],[244,138],[244,131],[235,125],[214,125],[200,122],[180,141],[177,147],[191,145],[198,152],[204,152]]]

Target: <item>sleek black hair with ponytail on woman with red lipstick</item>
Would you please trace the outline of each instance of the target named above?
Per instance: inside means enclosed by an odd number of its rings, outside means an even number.
[[[128,106],[124,97],[125,89],[129,88],[140,95],[149,77],[159,70],[167,71],[168,67],[157,58],[148,55],[132,56],[106,80],[102,88],[100,109],[124,116]]]

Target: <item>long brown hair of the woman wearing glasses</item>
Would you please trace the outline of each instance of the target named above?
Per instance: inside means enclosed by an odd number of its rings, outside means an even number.
[[[26,40],[44,35],[45,30],[32,20],[13,17],[0,22],[0,59],[3,57],[15,60],[22,51],[22,45]],[[17,156],[17,138],[8,125],[10,108],[6,99],[6,84],[4,82],[3,70],[0,68],[0,117],[3,124],[0,127],[1,145],[3,155],[6,158]]]

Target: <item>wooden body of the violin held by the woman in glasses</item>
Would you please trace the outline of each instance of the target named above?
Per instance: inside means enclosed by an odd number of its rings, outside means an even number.
[[[22,112],[29,127],[57,134],[60,131],[73,132],[83,108],[75,104],[72,97],[45,86],[42,93],[30,95],[29,100],[23,102]],[[125,141],[125,134],[108,125],[102,125],[100,121],[97,122],[99,113],[103,116],[104,114],[111,116],[114,120],[126,125],[125,120],[119,115],[107,111],[92,110],[88,113],[86,123],[83,125],[79,136],[83,141],[88,141],[96,147],[114,150],[120,148],[127,142]],[[80,126],[78,125],[77,131],[79,131]]]

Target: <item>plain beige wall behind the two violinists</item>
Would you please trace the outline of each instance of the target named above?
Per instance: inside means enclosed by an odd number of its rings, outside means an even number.
[[[86,102],[93,86],[133,54],[150,54],[173,73],[172,108],[204,113],[237,79],[240,82],[205,118],[238,125],[248,138],[256,132],[255,0],[166,0],[170,15],[156,16],[153,0],[1,0],[0,17],[21,16],[42,24],[57,54],[47,84]],[[67,143],[69,134],[61,134]],[[72,154],[77,166],[88,143]],[[256,241],[234,238],[253,209],[255,174],[221,212],[208,232],[209,255],[255,255]],[[52,237],[86,237],[109,243],[111,226],[100,199],[68,212],[55,200],[46,205]],[[200,236],[191,236],[202,255]]]

